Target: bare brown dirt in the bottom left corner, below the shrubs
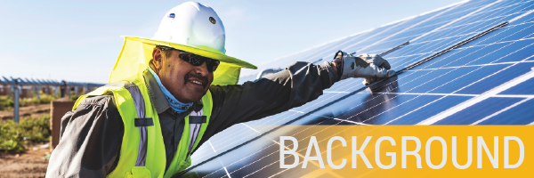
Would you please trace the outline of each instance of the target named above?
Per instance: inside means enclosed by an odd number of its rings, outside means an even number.
[[[38,149],[38,145],[30,148],[19,154],[1,152],[0,178],[44,177],[48,167],[48,160],[44,159],[44,155],[50,154],[50,149]]]

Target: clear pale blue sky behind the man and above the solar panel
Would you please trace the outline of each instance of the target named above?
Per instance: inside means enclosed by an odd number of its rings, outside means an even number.
[[[124,42],[185,1],[0,1],[0,76],[107,83]],[[255,65],[460,0],[200,1],[227,54]]]

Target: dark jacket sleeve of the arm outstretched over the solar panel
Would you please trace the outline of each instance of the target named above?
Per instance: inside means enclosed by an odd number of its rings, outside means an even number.
[[[286,69],[243,85],[210,86],[214,111],[205,142],[231,125],[271,116],[317,99],[337,81],[329,62],[295,62]]]

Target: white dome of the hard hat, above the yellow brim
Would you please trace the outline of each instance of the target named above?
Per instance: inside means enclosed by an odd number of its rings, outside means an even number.
[[[203,45],[226,53],[223,21],[210,6],[196,2],[183,3],[166,12],[152,39]]]

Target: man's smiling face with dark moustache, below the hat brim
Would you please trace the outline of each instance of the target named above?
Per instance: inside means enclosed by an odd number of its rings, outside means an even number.
[[[193,66],[188,61],[180,59],[179,51],[171,52],[168,58],[158,48],[152,53],[161,84],[178,101],[187,103],[200,100],[214,81],[214,74],[207,71],[206,62],[200,66]],[[158,53],[159,59],[164,58],[163,60],[158,60]]]

